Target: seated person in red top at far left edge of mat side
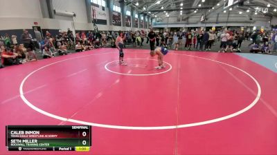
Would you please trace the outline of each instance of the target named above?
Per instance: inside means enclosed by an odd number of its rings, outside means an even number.
[[[18,64],[20,64],[19,60],[17,59],[17,54],[11,52],[10,48],[5,48],[1,52],[1,63],[2,63],[2,65],[18,65]]]

